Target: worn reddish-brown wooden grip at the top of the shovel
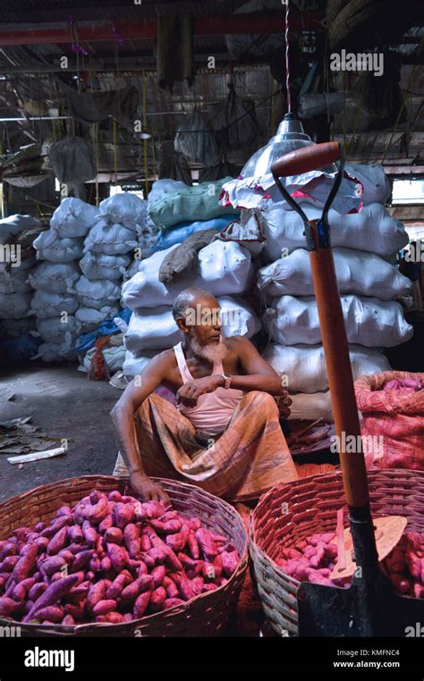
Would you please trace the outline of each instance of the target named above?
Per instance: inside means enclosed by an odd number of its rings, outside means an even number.
[[[334,164],[342,156],[340,142],[323,142],[310,147],[295,149],[277,158],[271,165],[271,172],[277,177],[298,175]]]

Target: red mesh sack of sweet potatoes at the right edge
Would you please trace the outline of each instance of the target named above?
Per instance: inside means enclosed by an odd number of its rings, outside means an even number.
[[[424,390],[381,390],[394,378],[424,381],[424,374],[383,371],[355,382],[365,461],[369,469],[424,470]]]

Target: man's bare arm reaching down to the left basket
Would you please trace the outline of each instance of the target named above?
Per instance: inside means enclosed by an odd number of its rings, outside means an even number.
[[[125,388],[110,415],[123,460],[130,473],[131,485],[143,499],[163,499],[169,503],[166,492],[146,475],[136,437],[134,415],[141,403],[148,398],[165,378],[170,359],[166,353],[154,357],[144,371]],[[137,380],[138,379],[138,380]]]

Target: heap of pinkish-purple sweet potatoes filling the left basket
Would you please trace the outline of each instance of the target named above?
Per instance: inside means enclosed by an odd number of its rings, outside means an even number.
[[[119,624],[217,589],[240,556],[198,517],[94,490],[0,542],[0,616]]]

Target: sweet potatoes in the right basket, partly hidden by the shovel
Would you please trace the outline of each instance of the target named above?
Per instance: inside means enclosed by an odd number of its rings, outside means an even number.
[[[330,579],[337,562],[335,533],[311,534],[284,548],[276,564],[299,582],[348,587],[351,578]],[[424,535],[404,533],[382,564],[397,593],[424,599]]]

